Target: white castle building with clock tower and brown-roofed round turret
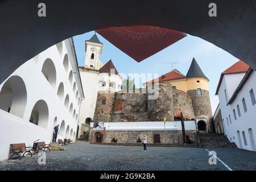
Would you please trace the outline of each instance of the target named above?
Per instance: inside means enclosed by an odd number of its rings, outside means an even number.
[[[118,92],[122,87],[123,78],[118,74],[112,60],[105,65],[100,61],[102,48],[103,44],[96,34],[85,41],[85,64],[79,68],[85,97],[81,101],[78,136],[83,135],[86,130],[83,128],[85,120],[93,119],[98,92]]]

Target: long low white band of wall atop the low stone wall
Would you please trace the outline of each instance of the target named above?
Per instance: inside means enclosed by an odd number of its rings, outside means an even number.
[[[196,130],[195,121],[184,121],[185,130]],[[90,123],[93,128],[93,122]],[[162,121],[144,121],[144,122],[104,122],[106,131],[164,131],[164,122]],[[182,130],[180,121],[166,122],[165,130]]]

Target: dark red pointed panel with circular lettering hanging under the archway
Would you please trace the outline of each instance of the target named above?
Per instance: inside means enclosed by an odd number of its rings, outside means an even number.
[[[154,26],[110,27],[96,32],[138,62],[187,36]]]

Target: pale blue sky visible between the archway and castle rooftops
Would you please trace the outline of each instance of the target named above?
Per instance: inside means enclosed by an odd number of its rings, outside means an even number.
[[[94,35],[94,31],[82,35],[74,36],[75,48],[79,66],[84,66],[85,61],[85,40],[89,40]],[[138,63],[131,57],[127,56],[117,47],[113,46],[108,40],[97,34],[100,41],[104,44],[100,60],[107,63],[112,59],[115,68],[119,73],[158,73],[159,76],[171,71],[171,65],[166,62],[177,62],[174,69],[178,69],[183,75],[187,74],[188,68],[193,57],[200,65],[205,76],[209,78],[210,101],[212,104],[213,114],[218,105],[218,96],[215,96],[218,80],[221,72],[238,59],[230,53],[224,51],[212,43],[201,38],[188,35],[180,41],[163,49],[155,55]],[[140,87],[141,85],[137,85]]]

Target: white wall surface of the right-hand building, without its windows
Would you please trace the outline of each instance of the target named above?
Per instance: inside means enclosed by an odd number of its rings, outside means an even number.
[[[243,85],[243,88],[237,94],[236,99],[233,101],[231,105],[228,105],[228,106],[226,106],[225,96],[221,94],[222,92],[224,92],[223,90],[224,85],[221,84],[221,88],[219,90],[221,115],[222,115],[222,119],[224,119],[225,134],[230,141],[236,142],[239,148],[244,148],[246,150],[255,150],[255,148],[252,147],[253,145],[251,144],[249,131],[248,131],[248,129],[250,128],[252,129],[253,135],[254,135],[254,142],[255,142],[256,141],[256,105],[253,106],[251,104],[251,98],[249,93],[251,88],[253,88],[254,95],[256,94],[255,82],[256,82],[256,73],[253,72],[251,73],[249,80],[247,80],[245,85]],[[245,98],[246,106],[247,106],[246,113],[243,110],[243,105],[242,105],[243,97]],[[237,105],[239,105],[240,107],[241,117],[238,116]],[[237,120],[234,119],[233,109],[236,110]],[[228,120],[229,120],[229,114],[230,114],[232,123],[230,123],[229,121],[229,125],[228,125],[228,123],[226,122],[226,118],[228,117]],[[240,142],[237,137],[237,131],[240,131],[242,146],[240,146]],[[243,131],[245,132],[247,146],[245,146],[245,143],[243,142],[243,136],[242,136]]]

